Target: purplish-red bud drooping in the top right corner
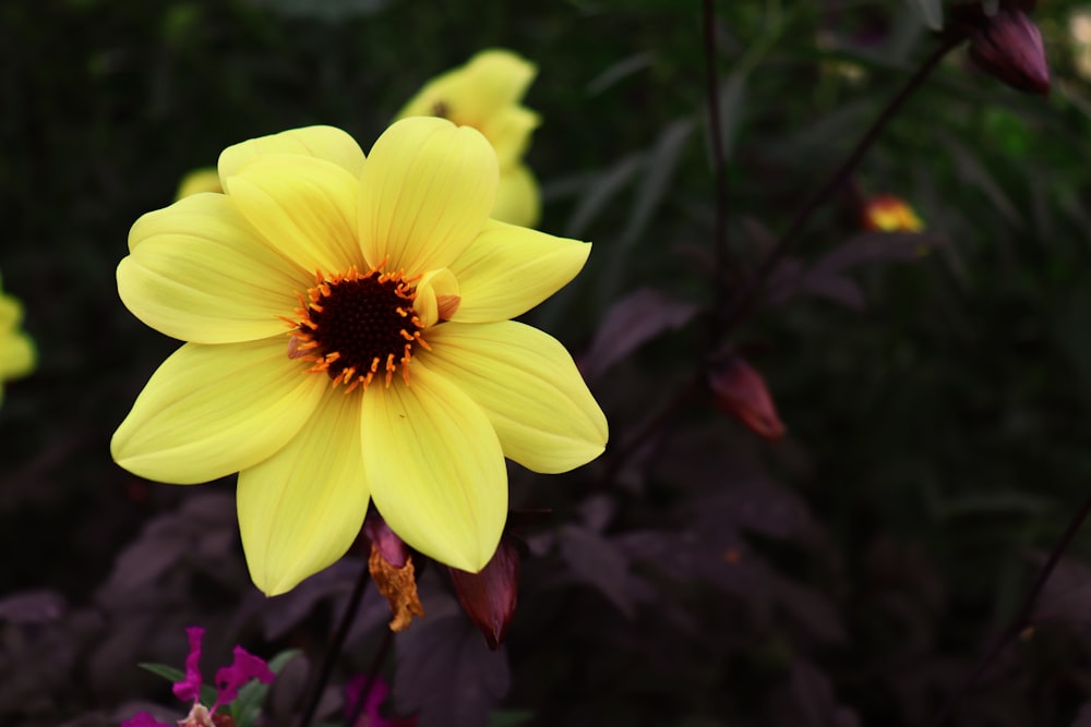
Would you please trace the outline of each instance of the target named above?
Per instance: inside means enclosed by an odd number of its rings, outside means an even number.
[[[995,15],[982,16],[970,36],[970,58],[1012,88],[1043,96],[1050,93],[1042,33],[1018,8],[1000,8]]]

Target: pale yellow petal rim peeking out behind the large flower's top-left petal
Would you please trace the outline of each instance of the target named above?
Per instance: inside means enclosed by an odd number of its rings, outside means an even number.
[[[219,155],[220,183],[254,159],[275,154],[295,154],[332,161],[359,179],[363,152],[356,140],[334,126],[304,126],[251,138],[229,146]],[[226,186],[226,185],[225,185]]]

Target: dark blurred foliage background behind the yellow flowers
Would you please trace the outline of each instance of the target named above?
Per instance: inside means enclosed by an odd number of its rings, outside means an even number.
[[[738,271],[934,47],[931,5],[717,3]],[[505,47],[539,68],[526,105],[544,120],[528,155],[540,229],[595,242],[585,272],[527,319],[582,363],[612,444],[564,477],[513,470],[513,501],[553,516],[527,529],[503,652],[475,632],[451,670],[422,666],[466,640],[449,589],[425,573],[432,618],[384,666],[392,708],[422,725],[490,711],[493,724],[925,724],[1091,485],[1082,8],[1050,0],[1033,16],[1048,98],[955,50],[806,228],[731,341],[787,425],[769,444],[703,389],[679,395],[706,354],[692,313],[717,300],[698,3],[0,4],[0,270],[40,351],[0,409],[0,722],[116,725],[133,702],[170,704],[136,663],[180,666],[190,623],[220,655],[241,642],[319,658],[355,556],[266,602],[230,482],[157,485],[110,461],[113,428],[177,346],[124,310],[113,269],[132,222],[225,146],[329,123],[367,149],[424,81]],[[859,242],[877,194],[907,201],[925,231],[806,278]],[[647,289],[658,298],[628,298]],[[619,311],[628,323],[610,325]],[[1091,696],[1089,556],[1077,537],[1035,628],[954,724],[1076,723]],[[384,607],[365,603],[335,684],[367,668]],[[274,687],[284,715],[296,671]]]

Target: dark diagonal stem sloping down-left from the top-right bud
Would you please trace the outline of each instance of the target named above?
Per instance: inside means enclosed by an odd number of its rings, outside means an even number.
[[[901,87],[898,95],[890,99],[890,102],[886,105],[883,111],[879,113],[878,118],[872,123],[871,128],[863,135],[863,137],[856,142],[856,145],[846,157],[844,161],[837,168],[837,170],[830,175],[826,183],[818,189],[817,192],[811,195],[810,198],[800,207],[795,216],[788,223],[788,229],[784,230],[783,234],[777,241],[777,244],[769,252],[769,254],[762,260],[757,270],[747,280],[746,286],[740,291],[739,295],[735,298],[735,303],[724,316],[723,323],[720,328],[723,331],[730,330],[733,326],[739,324],[740,320],[746,315],[750,307],[753,305],[754,300],[757,294],[762,291],[763,284],[765,284],[766,279],[772,272],[777,263],[791,250],[792,245],[795,244],[796,239],[803,231],[804,226],[811,219],[814,211],[824,203],[826,199],[838,190],[844,182],[849,179],[849,175],[855,170],[860,160],[864,158],[864,155],[871,149],[872,144],[878,138],[879,133],[886,128],[887,122],[890,121],[897,114],[898,110],[901,109],[906,100],[913,94],[914,90],[924,82],[928,73],[936,66],[937,63],[947,54],[947,52],[959,45],[962,41],[962,37],[945,38],[940,41],[940,45],[932,51],[924,62],[913,72],[913,75],[909,77],[906,85]]]

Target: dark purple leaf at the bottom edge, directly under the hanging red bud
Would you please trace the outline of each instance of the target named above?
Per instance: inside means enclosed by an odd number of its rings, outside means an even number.
[[[481,727],[507,693],[503,650],[490,651],[458,603],[434,579],[421,579],[428,615],[395,641],[394,700],[418,727]]]

